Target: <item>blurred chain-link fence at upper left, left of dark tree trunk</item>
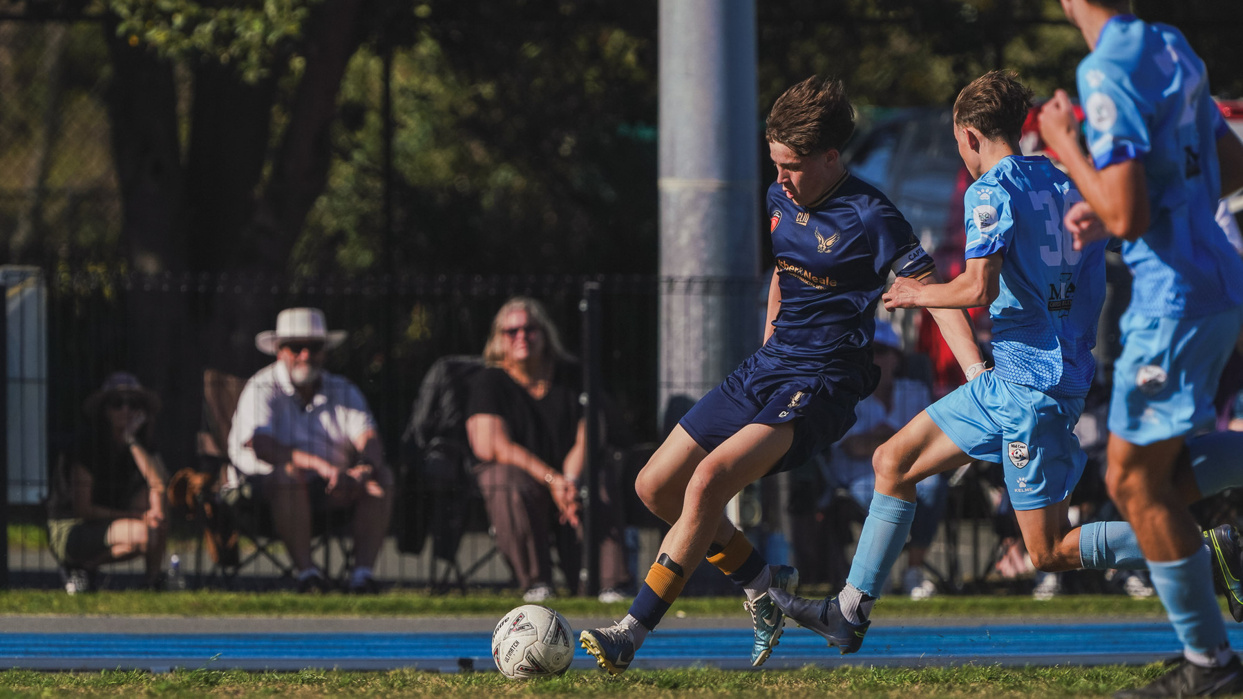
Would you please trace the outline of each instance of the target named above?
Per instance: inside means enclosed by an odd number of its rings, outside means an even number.
[[[10,262],[116,255],[122,215],[101,31],[94,21],[0,19],[0,230]]]

